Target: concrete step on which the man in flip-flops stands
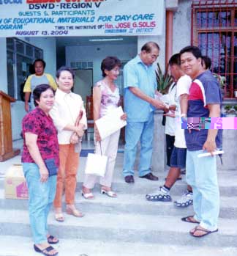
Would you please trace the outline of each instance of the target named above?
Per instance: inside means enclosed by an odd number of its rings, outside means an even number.
[[[48,218],[49,230],[59,238],[91,241],[138,242],[185,246],[236,247],[237,221],[219,219],[219,232],[194,239],[189,230],[194,224],[174,216],[139,213],[90,213],[81,219],[66,216],[65,222]],[[31,236],[28,211],[0,210],[0,235]]]

